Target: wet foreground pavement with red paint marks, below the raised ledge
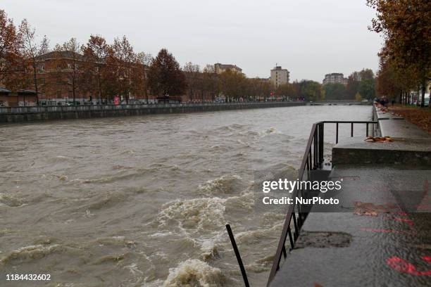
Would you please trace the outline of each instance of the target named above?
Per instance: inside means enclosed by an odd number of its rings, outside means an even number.
[[[339,208],[308,215],[270,286],[430,286],[431,196],[424,183],[431,174],[418,170],[400,180],[403,172],[335,167],[331,179],[343,179]],[[407,202],[405,194],[412,195]]]

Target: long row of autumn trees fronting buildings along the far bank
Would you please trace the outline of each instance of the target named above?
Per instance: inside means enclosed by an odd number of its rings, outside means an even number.
[[[374,98],[375,77],[372,70],[353,72],[346,86],[303,79],[273,87],[268,79],[247,78],[244,74],[215,73],[213,65],[203,69],[194,63],[183,67],[166,49],[154,58],[149,53],[135,52],[127,37],[115,38],[112,44],[100,35],[91,35],[85,44],[75,38],[49,47],[45,36],[37,39],[35,29],[27,20],[18,27],[0,10],[0,85],[8,89],[33,89],[41,94],[54,95],[59,89],[77,96],[111,101],[121,95],[130,96],[185,96],[187,101],[214,101],[223,94],[227,101],[261,101],[299,99],[319,101],[327,99]],[[48,56],[46,56],[48,55]],[[54,63],[41,68],[43,60]],[[184,97],[183,97],[184,98]]]

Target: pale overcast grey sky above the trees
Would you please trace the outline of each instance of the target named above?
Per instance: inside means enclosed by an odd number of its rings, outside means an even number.
[[[248,77],[269,77],[275,63],[292,80],[375,71],[382,42],[367,30],[375,13],[366,0],[2,0],[0,8],[15,24],[27,18],[51,46],[125,34],[135,51],[167,48],[181,65],[230,63]]]

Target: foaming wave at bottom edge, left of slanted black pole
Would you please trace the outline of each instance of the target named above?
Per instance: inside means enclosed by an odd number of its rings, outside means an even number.
[[[220,269],[201,260],[189,259],[169,269],[163,287],[218,287],[223,286],[224,282],[225,277]]]

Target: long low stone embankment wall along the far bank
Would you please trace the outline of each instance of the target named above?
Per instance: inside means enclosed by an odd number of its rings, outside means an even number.
[[[265,103],[168,103],[154,105],[97,105],[97,106],[26,106],[0,107],[0,123],[70,120],[92,117],[121,117],[166,113],[199,113],[217,110],[249,108],[280,108],[305,106],[305,102]]]

